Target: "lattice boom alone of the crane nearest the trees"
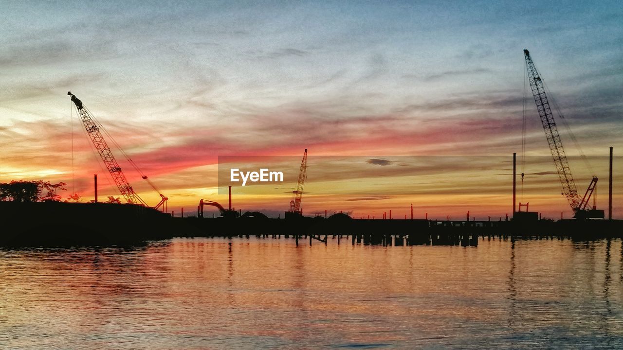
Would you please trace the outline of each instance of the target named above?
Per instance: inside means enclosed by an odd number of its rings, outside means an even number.
[[[76,105],[80,119],[87,130],[87,134],[93,142],[95,149],[97,149],[97,153],[99,153],[100,157],[102,157],[102,161],[104,162],[106,169],[108,169],[108,173],[112,176],[113,181],[115,181],[119,192],[121,192],[121,196],[123,196],[128,203],[145,204],[140,197],[136,196],[132,186],[128,183],[123,171],[121,171],[121,167],[115,160],[115,156],[113,156],[113,153],[110,151],[110,148],[104,140],[102,133],[100,133],[100,128],[98,128],[95,121],[93,121],[93,117],[87,111],[87,108],[84,108],[82,101],[75,97],[72,92],[67,92],[67,95],[72,97],[72,102]]]

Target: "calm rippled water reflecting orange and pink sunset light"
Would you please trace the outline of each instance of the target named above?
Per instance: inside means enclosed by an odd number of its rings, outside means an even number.
[[[0,348],[623,349],[621,240],[341,243],[3,249]]]

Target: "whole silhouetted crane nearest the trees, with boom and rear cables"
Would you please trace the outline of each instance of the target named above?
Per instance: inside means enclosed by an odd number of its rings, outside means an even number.
[[[110,176],[112,176],[113,181],[115,181],[119,192],[121,192],[121,196],[123,196],[123,198],[125,198],[128,203],[148,206],[145,201],[143,201],[143,199],[141,199],[141,197],[139,197],[138,194],[134,192],[132,186],[130,186],[130,183],[123,174],[123,171],[121,171],[121,167],[117,163],[117,160],[115,160],[115,156],[113,156],[112,151],[110,151],[108,144],[104,140],[100,129],[102,129],[104,133],[106,133],[109,137],[110,134],[107,133],[107,131],[102,127],[100,123],[98,123],[95,117],[93,117],[92,113],[88,111],[88,109],[82,104],[82,101],[75,97],[72,92],[67,92],[67,95],[72,97],[72,102],[74,102],[76,109],[78,110],[78,115],[80,115],[80,119],[82,120],[82,123],[87,130],[87,134],[91,139],[93,145],[95,146],[95,149],[100,154],[100,157],[102,157],[102,161],[104,162],[108,173],[110,173]],[[110,138],[113,143],[115,143],[115,140],[113,140],[112,137]],[[119,145],[117,144],[117,146]],[[145,179],[150,184],[150,186],[160,195],[160,202],[153,208],[164,209],[164,207],[166,207],[166,202],[168,201],[168,198],[160,193],[160,191],[158,191],[156,186],[154,186],[154,184],[148,179],[148,177],[143,174],[140,169],[138,169],[138,166],[136,166],[136,164],[130,159],[130,157],[123,151],[123,149],[121,149],[120,147],[119,149],[121,150],[121,153],[126,156],[126,159],[128,159],[128,161],[130,162],[130,164],[132,164],[136,171],[138,171],[141,177],[143,177],[143,179]]]

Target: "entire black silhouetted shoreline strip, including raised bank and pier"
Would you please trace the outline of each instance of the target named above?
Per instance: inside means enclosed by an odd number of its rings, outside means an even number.
[[[518,212],[516,213],[518,214]],[[528,213],[526,213],[528,214]],[[592,240],[623,236],[623,220],[354,220],[346,214],[269,219],[171,217],[135,204],[0,202],[6,229],[0,245],[110,245],[172,237],[285,237],[327,243],[328,237],[371,245],[477,245],[478,237],[572,237]]]

